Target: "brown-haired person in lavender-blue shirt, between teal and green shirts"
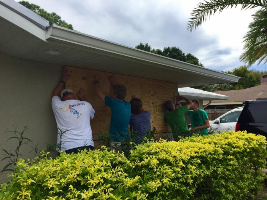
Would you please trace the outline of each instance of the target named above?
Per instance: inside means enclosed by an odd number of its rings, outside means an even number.
[[[144,136],[150,131],[150,112],[145,111],[142,107],[142,101],[132,96],[130,128],[132,139],[137,145],[142,142]]]

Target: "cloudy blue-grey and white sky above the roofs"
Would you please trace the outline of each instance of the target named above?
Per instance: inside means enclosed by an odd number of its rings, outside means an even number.
[[[18,0],[17,0],[18,1]],[[194,32],[186,30],[191,10],[202,0],[29,0],[48,12],[56,12],[74,30],[135,47],[179,47],[195,55],[206,67],[228,71],[244,65],[243,37],[254,10],[226,9]],[[267,70],[266,65],[251,69]]]

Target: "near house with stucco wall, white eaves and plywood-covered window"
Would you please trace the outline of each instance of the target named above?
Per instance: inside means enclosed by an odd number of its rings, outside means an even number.
[[[32,144],[21,148],[24,158],[39,144],[54,144],[57,126],[51,108],[51,94],[60,81],[63,66],[73,73],[66,83],[74,92],[86,89],[86,98],[95,108],[92,121],[94,139],[99,131],[107,132],[110,110],[96,96],[92,84],[102,76],[101,88],[108,94],[107,77],[113,75],[127,87],[125,100],[140,97],[144,109],[151,111],[152,127],[168,132],[162,107],[174,99],[178,87],[237,82],[239,77],[127,47],[79,31],[49,25],[49,22],[13,0],[0,0],[0,69],[1,69],[1,149],[16,148],[8,128],[21,131]],[[0,169],[4,163],[0,162]],[[0,182],[5,180],[5,174]]]

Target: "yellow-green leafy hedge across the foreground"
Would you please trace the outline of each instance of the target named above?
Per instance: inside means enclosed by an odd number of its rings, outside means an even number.
[[[138,145],[123,153],[20,159],[1,199],[247,199],[263,188],[266,138],[246,132]]]

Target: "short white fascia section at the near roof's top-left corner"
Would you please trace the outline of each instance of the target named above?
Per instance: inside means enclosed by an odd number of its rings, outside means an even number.
[[[31,10],[29,10],[28,8],[24,7],[23,5],[21,5],[20,3],[16,1],[0,0],[0,5],[6,7],[12,12],[15,12],[16,14],[20,15],[21,17],[25,18],[31,23],[34,23],[35,25],[39,26],[43,30],[45,30],[49,26],[49,21],[37,15],[36,13],[32,12]]]

